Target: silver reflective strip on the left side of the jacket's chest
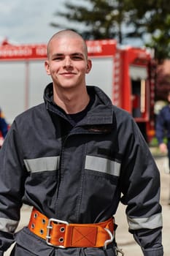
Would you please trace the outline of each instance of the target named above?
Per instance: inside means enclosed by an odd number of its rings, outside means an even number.
[[[36,159],[24,159],[28,172],[36,173],[42,171],[58,170],[60,157],[41,157]]]

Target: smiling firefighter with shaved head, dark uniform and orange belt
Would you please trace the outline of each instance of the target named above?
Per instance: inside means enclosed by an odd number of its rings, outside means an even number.
[[[13,241],[13,256],[115,256],[120,202],[143,254],[163,255],[158,168],[134,119],[86,86],[91,67],[74,31],[48,42],[45,102],[15,118],[0,151],[0,256]],[[23,203],[33,210],[15,233]]]

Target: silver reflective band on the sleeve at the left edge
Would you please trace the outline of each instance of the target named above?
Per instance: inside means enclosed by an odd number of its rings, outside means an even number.
[[[0,230],[7,233],[14,233],[18,227],[18,221],[13,219],[0,218]]]

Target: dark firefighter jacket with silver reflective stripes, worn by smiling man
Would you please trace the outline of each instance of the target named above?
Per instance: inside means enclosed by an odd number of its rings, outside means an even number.
[[[93,106],[64,134],[69,121],[53,103],[52,88],[45,89],[45,104],[15,118],[0,151],[0,255],[12,243],[22,203],[47,217],[95,223],[115,215],[120,201],[144,255],[163,255],[160,176],[133,118],[88,86]],[[27,227],[15,241],[28,255],[106,255],[101,248],[56,249]]]

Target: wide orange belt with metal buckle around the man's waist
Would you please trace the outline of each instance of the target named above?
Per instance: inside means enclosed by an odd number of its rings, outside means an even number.
[[[72,224],[59,219],[48,219],[35,208],[31,212],[29,230],[46,240],[48,245],[66,247],[101,247],[114,239],[113,218],[95,224]]]

